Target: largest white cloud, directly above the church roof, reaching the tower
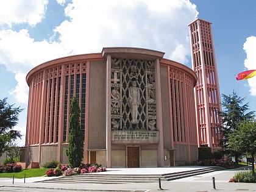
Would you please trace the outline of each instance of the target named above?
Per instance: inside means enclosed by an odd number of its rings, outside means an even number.
[[[182,0],[74,0],[65,13],[70,21],[64,21],[55,32],[74,54],[132,46],[164,51],[178,62],[187,62],[186,55],[190,55],[188,24],[198,14],[196,5]]]

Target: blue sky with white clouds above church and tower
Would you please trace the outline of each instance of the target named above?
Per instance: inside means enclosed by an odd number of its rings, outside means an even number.
[[[27,73],[68,55],[105,47],[137,47],[165,52],[191,68],[188,24],[212,23],[221,94],[249,102],[256,111],[256,77],[235,75],[256,69],[254,0],[2,0],[0,7],[0,99],[24,108],[19,123],[26,135]]]

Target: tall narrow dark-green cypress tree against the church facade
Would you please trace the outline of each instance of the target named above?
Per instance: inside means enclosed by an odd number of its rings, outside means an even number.
[[[80,108],[76,96],[71,99],[69,110],[69,137],[66,155],[71,168],[80,166],[84,157],[84,134],[80,127]]]

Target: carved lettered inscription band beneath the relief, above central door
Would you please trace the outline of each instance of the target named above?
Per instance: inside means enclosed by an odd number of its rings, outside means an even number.
[[[112,141],[158,141],[158,131],[112,130]]]

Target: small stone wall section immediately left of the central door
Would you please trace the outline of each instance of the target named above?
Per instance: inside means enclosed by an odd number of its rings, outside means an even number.
[[[126,150],[112,150],[112,168],[126,167]]]

